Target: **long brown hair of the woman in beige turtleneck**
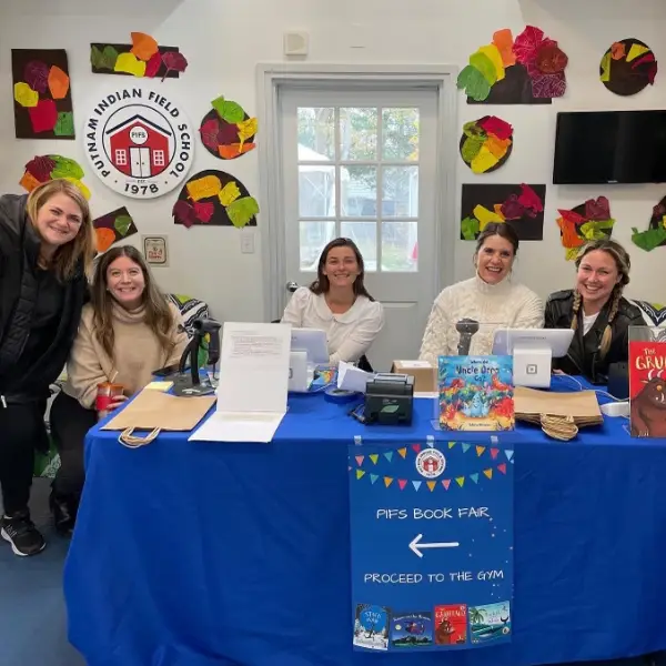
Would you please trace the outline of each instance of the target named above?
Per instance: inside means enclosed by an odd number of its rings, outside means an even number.
[[[94,334],[107,355],[113,359],[113,305],[117,302],[108,290],[107,272],[109,266],[120,256],[127,256],[133,261],[143,273],[145,289],[141,294],[141,300],[142,305],[145,307],[144,322],[157,335],[164,356],[169,357],[175,346],[170,336],[174,324],[173,314],[169,307],[167,296],[155,284],[145,260],[139,250],[132,245],[111,248],[97,260],[91,290]]]

